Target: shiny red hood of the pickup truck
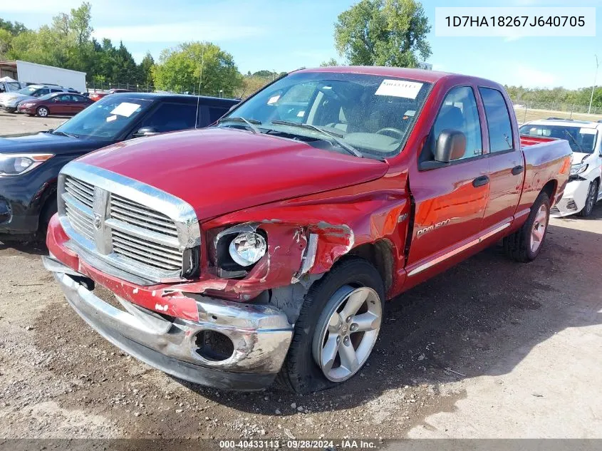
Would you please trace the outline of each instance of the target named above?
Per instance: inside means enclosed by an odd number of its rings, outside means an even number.
[[[388,170],[387,162],[225,128],[119,142],[79,161],[180,197],[199,220],[368,182]]]

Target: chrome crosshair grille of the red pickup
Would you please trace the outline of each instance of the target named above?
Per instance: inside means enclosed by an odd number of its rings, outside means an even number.
[[[131,273],[165,282],[187,274],[190,258],[184,259],[185,251],[200,244],[189,204],[80,162],[63,168],[59,193],[59,218],[67,234],[93,256],[125,270],[120,276],[127,279]]]

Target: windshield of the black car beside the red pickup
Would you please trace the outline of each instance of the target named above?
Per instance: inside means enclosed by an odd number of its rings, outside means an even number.
[[[53,133],[88,136],[101,140],[114,140],[129,127],[152,100],[119,96],[105,97],[85,108]]]

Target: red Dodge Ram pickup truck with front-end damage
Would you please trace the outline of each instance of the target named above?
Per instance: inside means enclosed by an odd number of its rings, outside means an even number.
[[[295,71],[211,128],[66,165],[43,260],[90,326],[151,366],[321,390],[365,364],[385,301],[502,239],[536,258],[571,148],[530,143],[492,81]]]

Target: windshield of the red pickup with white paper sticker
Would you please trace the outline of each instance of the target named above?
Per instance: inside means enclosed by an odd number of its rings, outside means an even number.
[[[358,73],[293,73],[219,122],[363,157],[400,152],[430,83]],[[228,119],[230,118],[230,119]],[[324,143],[328,147],[324,147]]]

